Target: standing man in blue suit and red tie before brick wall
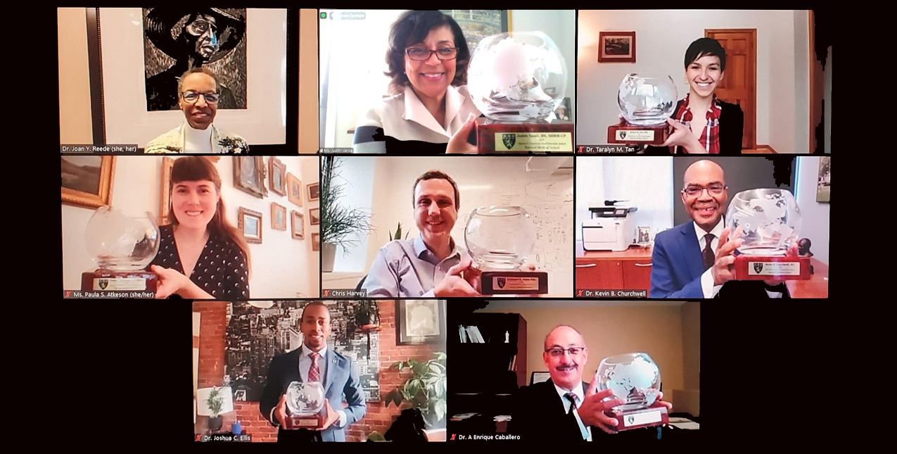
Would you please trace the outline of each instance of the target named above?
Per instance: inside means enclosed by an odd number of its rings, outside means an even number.
[[[300,331],[300,348],[271,360],[259,411],[278,427],[277,441],[345,441],[346,426],[360,420],[367,411],[358,368],[351,359],[327,348],[330,313],[323,302],[305,306]],[[320,381],[324,386],[325,418],[318,431],[283,428],[289,413],[285,393],[292,381]],[[344,402],[348,404],[345,407]]]

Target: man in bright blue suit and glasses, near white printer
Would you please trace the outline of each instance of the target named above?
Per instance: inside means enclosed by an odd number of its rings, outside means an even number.
[[[679,196],[692,221],[655,237],[651,298],[714,298],[727,283],[731,284],[726,296],[788,297],[780,282],[733,281],[735,251],[743,241],[729,239],[732,232],[723,217],[728,187],[722,167],[710,160],[692,163],[685,170]],[[789,254],[797,255],[796,244]]]

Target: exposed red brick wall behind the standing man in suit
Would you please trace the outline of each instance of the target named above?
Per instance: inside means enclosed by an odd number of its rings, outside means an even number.
[[[193,303],[194,312],[202,314],[199,328],[199,388],[223,384],[226,304],[217,301]],[[386,397],[389,391],[396,389],[411,375],[409,371],[388,371],[393,362],[409,358],[427,361],[437,349],[434,345],[396,345],[395,301],[380,301],[380,326],[380,396]],[[277,429],[259,414],[258,402],[234,402],[233,405],[235,411],[224,415],[222,430],[229,431],[231,423],[239,420],[243,432],[252,434],[253,441],[277,441]],[[365,441],[372,431],[386,433],[396,416],[408,406],[404,403],[401,408],[394,405],[386,407],[384,402],[369,402],[367,415],[347,428],[346,439]],[[205,432],[207,423],[206,416],[197,416],[196,433]]]

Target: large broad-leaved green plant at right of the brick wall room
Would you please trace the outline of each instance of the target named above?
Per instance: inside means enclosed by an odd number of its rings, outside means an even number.
[[[428,428],[445,427],[446,420],[446,354],[436,352],[426,362],[408,361],[394,362],[389,370],[411,370],[411,376],[405,383],[389,391],[386,397],[390,403],[400,406],[403,401],[411,403],[412,408],[421,410],[424,423]]]

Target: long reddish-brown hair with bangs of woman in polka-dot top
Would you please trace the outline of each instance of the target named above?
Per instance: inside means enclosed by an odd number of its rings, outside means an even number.
[[[246,268],[251,274],[252,266],[249,261],[249,245],[246,240],[243,240],[237,228],[228,223],[227,218],[224,217],[224,198],[220,196],[222,193],[222,178],[218,175],[218,170],[215,169],[211,161],[202,156],[185,156],[176,159],[171,167],[169,194],[173,194],[174,185],[180,182],[200,180],[212,181],[215,185],[215,190],[219,194],[218,204],[215,205],[215,215],[212,221],[209,221],[206,229],[208,229],[210,235],[217,235],[218,238],[237,245],[243,252],[243,257],[246,258]],[[174,215],[170,201],[169,211],[171,213],[171,225],[178,225],[178,216]]]

